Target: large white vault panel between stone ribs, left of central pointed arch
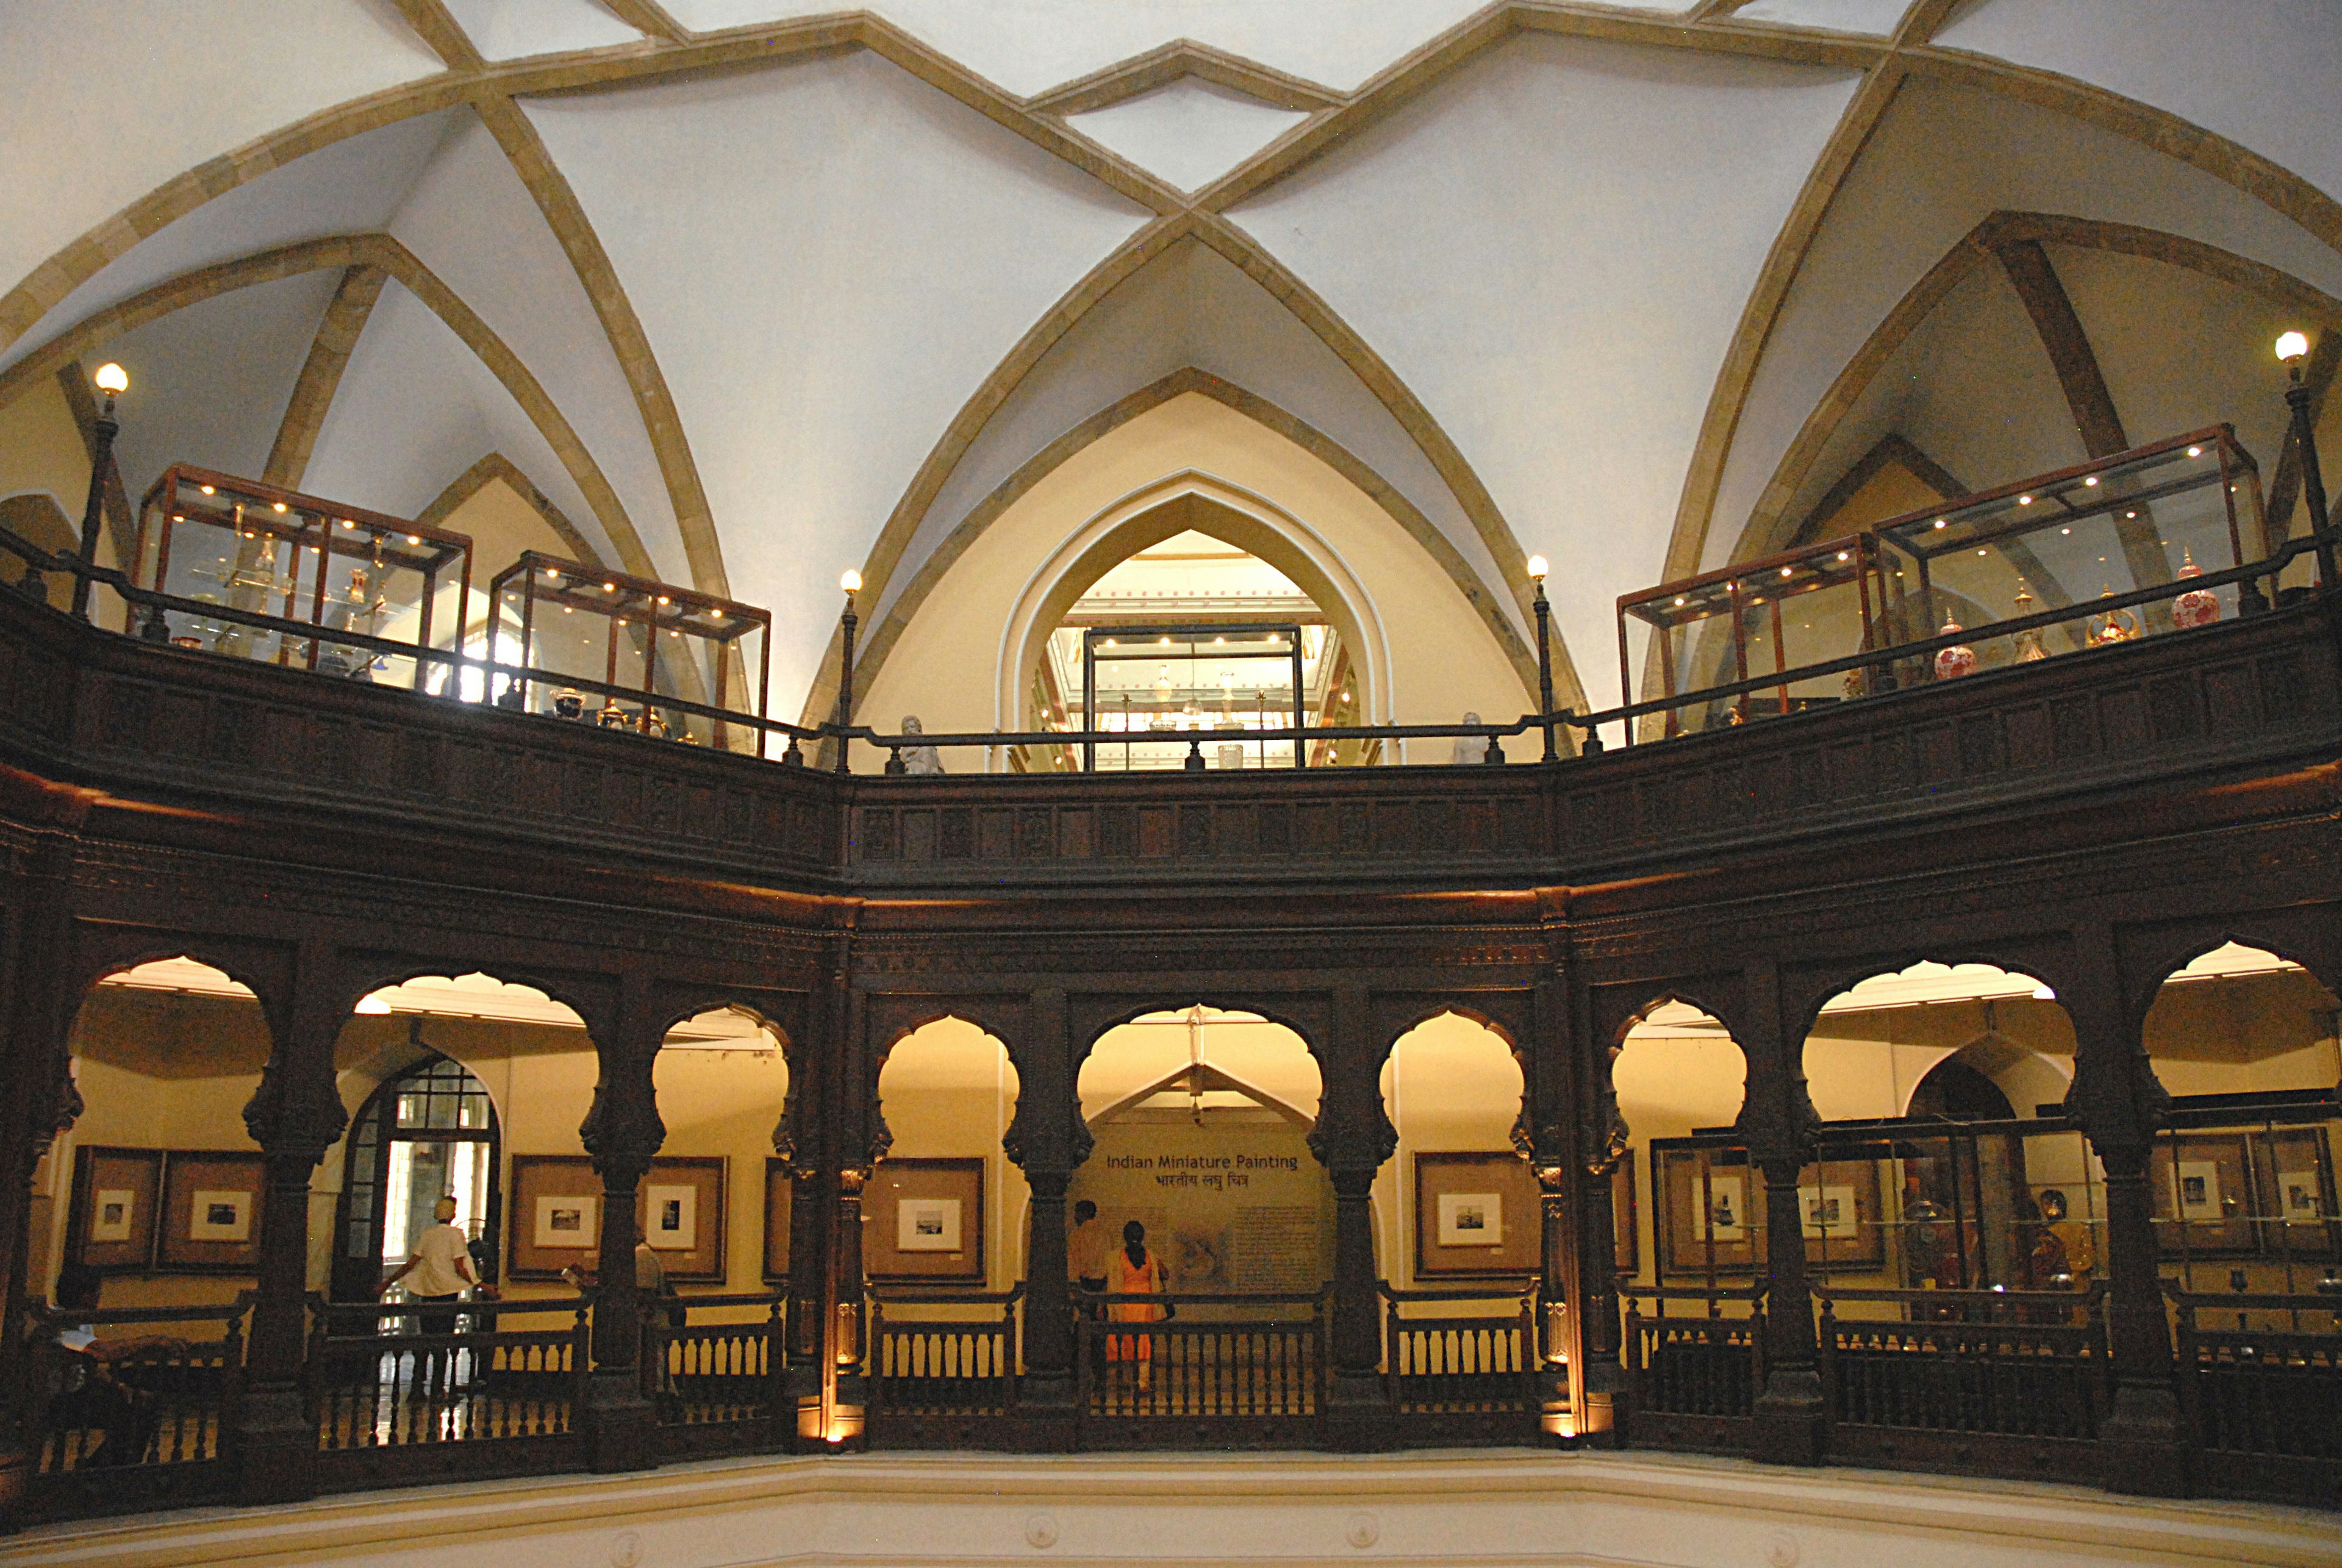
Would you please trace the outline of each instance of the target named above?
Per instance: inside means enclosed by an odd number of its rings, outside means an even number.
[[[799,690],[838,573],[927,449],[1143,213],[867,51],[529,117],[609,246],[707,503],[740,541],[733,594],[775,611],[773,681]]]

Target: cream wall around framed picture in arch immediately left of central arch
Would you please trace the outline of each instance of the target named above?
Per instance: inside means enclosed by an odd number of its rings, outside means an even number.
[[[888,1053],[878,1100],[895,1158],[984,1161],[984,1287],[1021,1280],[1030,1189],[1000,1147],[1016,1116],[1009,1053],[965,1018],[930,1023]]]

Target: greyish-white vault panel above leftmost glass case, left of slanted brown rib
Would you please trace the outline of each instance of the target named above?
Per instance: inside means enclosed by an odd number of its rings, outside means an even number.
[[[340,271],[255,283],[150,321],[84,356],[119,360],[115,452],[122,484],[143,496],[171,463],[258,475]]]

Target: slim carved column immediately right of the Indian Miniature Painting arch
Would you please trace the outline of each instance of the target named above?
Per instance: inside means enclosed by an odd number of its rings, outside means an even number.
[[[1328,1439],[1337,1449],[1377,1442],[1389,1409],[1382,1381],[1382,1299],[1375,1290],[1375,1219],[1368,1194],[1375,1172],[1398,1149],[1398,1130],[1382,1112],[1382,1053],[1363,981],[1333,995],[1333,1039],[1326,1051],[1326,1093],[1309,1149],[1333,1182],[1333,1343],[1328,1364]]]

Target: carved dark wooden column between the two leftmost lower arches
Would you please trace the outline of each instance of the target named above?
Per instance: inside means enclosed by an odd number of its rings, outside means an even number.
[[[309,1177],[349,1126],[333,1074],[333,1041],[347,1006],[330,948],[304,941],[293,962],[293,995],[274,1011],[276,1032],[244,1126],[260,1144],[267,1191],[260,1201],[260,1266],[253,1336],[244,1360],[237,1421],[237,1495],[288,1502],[316,1491],[316,1425],[302,1392],[309,1343]]]

